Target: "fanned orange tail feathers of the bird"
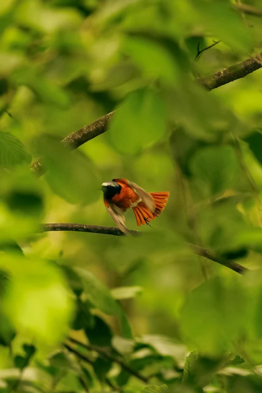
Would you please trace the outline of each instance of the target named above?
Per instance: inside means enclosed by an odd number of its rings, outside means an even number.
[[[149,210],[149,208],[145,205],[144,202],[139,202],[139,204],[133,207],[133,211],[135,213],[137,219],[137,225],[145,225],[151,220],[154,220],[162,211],[165,209],[168,198],[169,192],[153,192],[151,193],[154,202],[156,204],[156,210],[154,214]]]

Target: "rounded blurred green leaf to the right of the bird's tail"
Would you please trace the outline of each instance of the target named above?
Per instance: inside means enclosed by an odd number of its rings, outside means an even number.
[[[199,150],[190,168],[203,193],[217,195],[233,186],[238,162],[232,147],[212,146]]]

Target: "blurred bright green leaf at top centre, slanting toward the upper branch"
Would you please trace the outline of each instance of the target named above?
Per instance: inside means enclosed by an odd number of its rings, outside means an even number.
[[[178,79],[178,66],[173,55],[153,40],[137,37],[125,37],[123,52],[130,56],[147,78],[161,78],[175,83]]]

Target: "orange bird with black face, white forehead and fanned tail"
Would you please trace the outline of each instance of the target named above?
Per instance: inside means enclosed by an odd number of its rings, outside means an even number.
[[[104,205],[121,232],[126,235],[130,231],[125,225],[124,213],[132,208],[137,225],[150,225],[164,210],[169,192],[148,193],[136,183],[126,179],[113,179],[101,185],[104,196]]]

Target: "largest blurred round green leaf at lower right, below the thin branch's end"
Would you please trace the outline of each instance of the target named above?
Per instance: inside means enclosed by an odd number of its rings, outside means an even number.
[[[249,296],[239,278],[215,278],[194,289],[181,311],[186,340],[214,356],[248,331]]]

